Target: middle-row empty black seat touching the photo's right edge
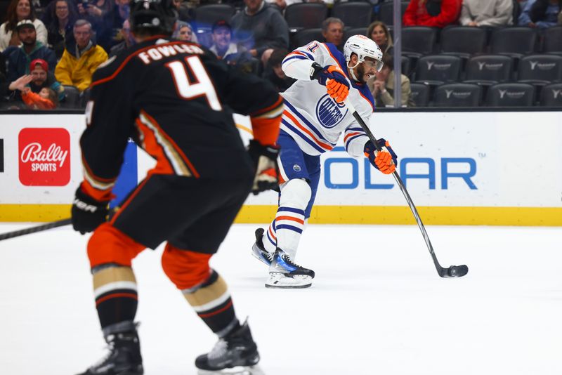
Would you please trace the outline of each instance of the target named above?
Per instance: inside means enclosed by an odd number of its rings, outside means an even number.
[[[519,60],[518,81],[547,85],[562,80],[562,56],[529,55]]]

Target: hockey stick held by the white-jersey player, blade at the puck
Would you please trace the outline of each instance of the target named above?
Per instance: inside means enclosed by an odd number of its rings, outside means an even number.
[[[373,143],[374,147],[377,148],[377,151],[381,152],[382,149],[377,144],[377,139],[374,138],[373,133],[371,132],[371,130],[369,129],[367,124],[365,124],[365,121],[363,121],[363,119],[360,117],[358,112],[355,110],[355,107],[353,107],[353,105],[349,102],[348,99],[346,99],[344,103],[346,104],[348,109],[353,113],[353,117],[355,117],[355,119],[361,125],[361,128],[365,131],[365,133],[367,133],[367,137],[369,137],[369,139]],[[426,245],[427,245],[427,249],[429,250],[429,254],[431,254],[431,258],[433,259],[433,264],[435,265],[435,268],[436,268],[439,276],[440,277],[463,277],[464,275],[466,275],[469,272],[469,268],[466,265],[451,265],[449,268],[441,267],[441,265],[439,264],[439,261],[437,260],[437,256],[435,255],[435,251],[433,251],[433,246],[431,246],[431,241],[429,241],[429,235],[427,235],[426,228],[424,227],[424,224],[421,223],[421,218],[419,217],[419,213],[417,213],[416,206],[414,206],[414,202],[412,202],[412,198],[410,197],[410,194],[408,194],[408,192],[406,190],[406,187],[402,183],[402,180],[400,179],[400,175],[398,174],[398,171],[393,171],[392,175],[394,176],[394,179],[396,180],[396,183],[398,183],[398,186],[400,187],[400,190],[402,190],[402,193],[403,193],[404,197],[406,198],[406,201],[408,202],[408,206],[410,206],[410,209],[412,210],[412,213],[414,214],[414,218],[416,219],[417,226],[419,227],[419,230],[421,230],[421,235],[424,236],[424,239],[425,239]]]

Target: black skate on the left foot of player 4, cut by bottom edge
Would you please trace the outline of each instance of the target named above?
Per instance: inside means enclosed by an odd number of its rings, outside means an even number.
[[[141,346],[136,324],[121,322],[104,330],[110,353],[79,375],[143,375]]]

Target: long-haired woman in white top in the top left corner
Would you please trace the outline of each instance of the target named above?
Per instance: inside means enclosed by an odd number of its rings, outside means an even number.
[[[13,31],[22,20],[31,20],[37,33],[37,40],[41,44],[47,44],[47,29],[35,16],[35,8],[30,0],[12,0],[6,11],[6,22],[0,25],[0,52],[8,46],[20,46],[18,34]]]

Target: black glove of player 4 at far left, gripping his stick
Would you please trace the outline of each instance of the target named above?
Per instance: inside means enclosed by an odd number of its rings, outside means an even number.
[[[100,202],[78,187],[72,204],[72,228],[82,235],[91,232],[107,220],[109,201]]]

